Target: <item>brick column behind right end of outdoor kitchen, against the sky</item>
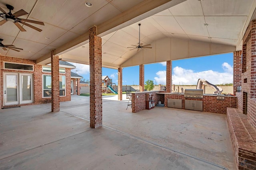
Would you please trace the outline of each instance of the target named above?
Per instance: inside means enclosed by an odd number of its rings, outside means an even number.
[[[235,51],[233,60],[233,94],[236,94],[237,87],[242,85],[242,51]]]

